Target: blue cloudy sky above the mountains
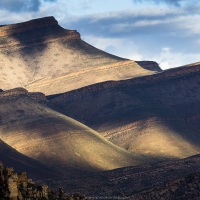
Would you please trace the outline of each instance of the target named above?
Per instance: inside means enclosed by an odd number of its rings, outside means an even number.
[[[200,0],[0,0],[0,24],[45,16],[120,57],[162,69],[200,61]]]

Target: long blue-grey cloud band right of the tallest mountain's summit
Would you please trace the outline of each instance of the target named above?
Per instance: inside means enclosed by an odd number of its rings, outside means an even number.
[[[170,16],[168,14],[134,16],[133,12],[108,17],[88,16],[67,25],[96,36],[131,37],[133,34],[161,36],[163,33],[167,35],[177,30],[177,27],[171,24],[171,20],[176,17],[177,14],[174,13]]]

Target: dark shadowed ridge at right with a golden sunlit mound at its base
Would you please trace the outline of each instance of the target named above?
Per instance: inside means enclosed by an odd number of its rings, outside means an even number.
[[[114,144],[152,157],[200,153],[200,65],[104,82],[48,97]]]

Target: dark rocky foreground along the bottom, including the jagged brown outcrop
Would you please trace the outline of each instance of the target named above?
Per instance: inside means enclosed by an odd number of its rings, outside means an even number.
[[[0,199],[199,199],[200,156],[35,183],[0,162]],[[63,188],[64,186],[64,188]],[[58,189],[60,188],[60,189]],[[82,195],[84,194],[84,195]]]

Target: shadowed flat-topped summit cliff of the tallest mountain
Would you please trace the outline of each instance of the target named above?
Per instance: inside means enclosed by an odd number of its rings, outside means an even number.
[[[0,49],[3,51],[73,39],[80,39],[80,34],[61,28],[54,17],[0,27]]]

